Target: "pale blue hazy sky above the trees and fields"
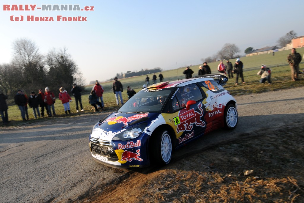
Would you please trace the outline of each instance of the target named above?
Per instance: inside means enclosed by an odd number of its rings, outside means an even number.
[[[226,43],[235,44],[241,50],[238,54],[244,55],[247,47],[277,45],[291,30],[304,35],[302,0],[1,2],[0,64],[12,60],[14,41],[29,39],[41,54],[67,48],[85,84],[121,72],[202,64],[202,58],[213,56]],[[34,4],[30,11],[21,11],[19,6],[25,9]],[[48,4],[54,11],[37,9]],[[80,9],[93,6],[94,11],[56,11],[61,4]],[[4,5],[19,10],[8,11]],[[20,16],[23,21],[15,21]],[[27,16],[53,17],[54,21],[28,21]],[[57,16],[81,16],[86,21],[57,21]]]

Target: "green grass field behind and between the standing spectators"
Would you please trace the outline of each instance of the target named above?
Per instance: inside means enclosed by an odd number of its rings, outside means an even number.
[[[244,64],[244,79],[245,79],[245,84],[240,84],[240,79],[239,79],[239,85],[234,85],[235,83],[235,78],[230,79],[227,84],[225,85],[225,88],[230,91],[232,95],[241,95],[241,94],[249,94],[249,93],[260,93],[260,92],[267,92],[267,91],[273,91],[273,90],[278,90],[278,89],[287,89],[287,88],[293,88],[293,87],[300,87],[304,86],[304,74],[300,74],[299,78],[301,79],[298,82],[292,82],[291,81],[291,73],[290,73],[290,68],[287,64],[286,58],[287,55],[290,53],[290,50],[285,50],[285,51],[278,51],[275,52],[275,55],[273,56],[272,54],[261,54],[261,55],[256,55],[256,56],[250,56],[250,57],[243,57],[240,58],[240,60]],[[301,54],[301,56],[304,53],[304,47],[298,48],[297,52]],[[232,64],[235,63],[235,59],[230,60]],[[208,65],[211,68],[212,73],[217,73],[217,65],[219,62],[212,62],[209,63]],[[261,64],[265,64],[268,68],[271,68],[272,73],[271,73],[271,80],[272,84],[260,84],[260,76],[257,75],[257,72],[260,70]],[[200,65],[200,64],[199,64]],[[191,69],[194,71],[193,76],[197,75],[197,72],[199,70],[199,65],[193,65]],[[185,75],[182,74],[185,68],[178,68],[178,69],[173,69],[173,70],[167,70],[163,71],[162,74],[164,75],[164,80],[163,81],[173,81],[173,80],[178,80],[178,79],[184,79]],[[300,70],[304,69],[304,61],[300,63]],[[150,74],[149,77],[152,78],[153,74]],[[156,73],[158,76],[159,73]],[[97,76],[98,78],[98,76]],[[142,89],[143,84],[145,84],[145,78],[146,75],[142,76],[136,76],[132,78],[126,78],[126,79],[119,79],[120,82],[123,84],[124,91],[122,93],[123,95],[123,100],[126,101],[128,99],[127,97],[127,86],[130,86],[133,88],[136,92]],[[157,78],[157,81],[159,82],[159,79]],[[116,109],[116,101],[115,101],[115,96],[112,91],[112,83],[113,81],[110,82],[103,82],[101,85],[105,89],[103,93],[103,101],[105,103],[106,110],[109,111],[109,113]],[[152,80],[150,82],[152,84]],[[86,114],[86,113],[93,113],[90,112],[92,106],[88,103],[88,96],[89,92],[91,91],[93,85],[88,85],[85,86],[85,90],[82,95],[82,104],[85,109],[84,112],[79,112],[76,113],[76,105],[74,98],[72,97],[73,101],[70,103],[71,107],[71,112],[73,114],[69,114],[69,116],[75,116],[79,114]],[[65,116],[64,113],[64,107],[61,103],[61,101],[58,99],[58,94],[55,93],[55,96],[57,97],[56,103],[55,103],[55,111],[56,111],[56,117],[61,117]],[[12,103],[12,98],[9,98],[10,100],[8,103]],[[79,109],[80,110],[80,109]],[[39,120],[39,119],[34,119],[33,116],[33,110],[31,108],[28,108],[28,113],[29,113],[29,120]],[[16,105],[9,105],[9,120],[10,121],[21,121],[21,115],[20,115],[20,110],[18,106]],[[53,118],[53,117],[52,117]],[[40,119],[46,119],[45,118],[40,118]],[[2,122],[1,122],[2,123]],[[18,124],[19,122],[14,122],[14,124]]]

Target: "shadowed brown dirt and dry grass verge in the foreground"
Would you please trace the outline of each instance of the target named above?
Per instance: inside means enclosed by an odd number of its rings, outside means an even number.
[[[264,129],[147,173],[130,171],[80,202],[304,202],[303,131],[302,122]]]

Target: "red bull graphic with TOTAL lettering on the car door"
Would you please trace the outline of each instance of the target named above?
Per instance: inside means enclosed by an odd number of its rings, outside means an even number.
[[[205,127],[205,121],[201,121],[201,117],[204,115],[204,111],[202,109],[202,103],[198,105],[199,110],[195,111],[194,109],[186,110],[182,109],[177,117],[174,117],[174,124],[177,125],[176,132],[179,133],[181,131],[191,131],[193,128],[193,124],[196,126]]]

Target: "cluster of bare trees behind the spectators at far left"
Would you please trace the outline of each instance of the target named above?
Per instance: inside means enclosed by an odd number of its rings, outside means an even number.
[[[13,50],[12,61],[0,65],[0,90],[7,95],[15,95],[17,89],[30,94],[46,86],[57,92],[62,86],[70,91],[73,83],[84,85],[82,73],[66,48],[43,55],[33,41],[19,39]]]

